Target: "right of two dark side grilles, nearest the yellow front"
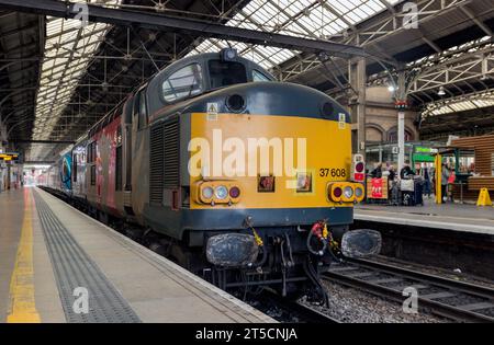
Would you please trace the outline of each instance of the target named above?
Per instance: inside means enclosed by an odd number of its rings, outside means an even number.
[[[180,185],[180,126],[179,118],[165,124],[165,188]]]

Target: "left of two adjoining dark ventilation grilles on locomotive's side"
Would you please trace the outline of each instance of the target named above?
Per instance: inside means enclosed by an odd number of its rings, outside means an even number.
[[[164,187],[164,131],[162,124],[150,129],[149,138],[149,202],[161,204]]]

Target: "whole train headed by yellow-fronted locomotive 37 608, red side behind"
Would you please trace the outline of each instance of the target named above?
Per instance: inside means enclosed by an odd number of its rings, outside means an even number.
[[[321,298],[341,251],[379,251],[377,233],[347,231],[363,166],[337,102],[224,49],[136,89],[46,188],[224,289]]]

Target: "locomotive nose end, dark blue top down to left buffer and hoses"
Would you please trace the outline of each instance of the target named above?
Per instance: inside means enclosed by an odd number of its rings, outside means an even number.
[[[278,279],[283,295],[306,291],[299,279],[318,281],[364,197],[351,181],[349,115],[288,83],[237,85],[211,97],[205,112],[190,114],[190,211],[205,230],[191,232],[204,235],[216,268]]]

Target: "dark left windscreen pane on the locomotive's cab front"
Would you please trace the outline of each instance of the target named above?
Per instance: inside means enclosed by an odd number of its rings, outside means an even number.
[[[210,60],[211,89],[242,84],[247,82],[245,65],[236,61]]]

